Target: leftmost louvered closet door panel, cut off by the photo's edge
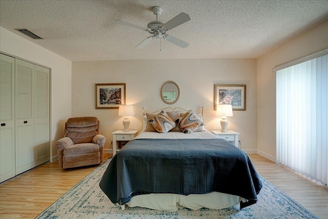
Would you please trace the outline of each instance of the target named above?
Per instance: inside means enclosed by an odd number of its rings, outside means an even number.
[[[0,182],[15,176],[15,58],[0,54]]]

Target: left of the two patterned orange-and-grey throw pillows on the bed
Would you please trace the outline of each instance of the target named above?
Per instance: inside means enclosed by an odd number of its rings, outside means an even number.
[[[154,118],[148,121],[156,131],[159,133],[167,133],[171,129],[176,127],[176,124],[171,120],[171,118],[166,114],[166,112],[161,111]]]

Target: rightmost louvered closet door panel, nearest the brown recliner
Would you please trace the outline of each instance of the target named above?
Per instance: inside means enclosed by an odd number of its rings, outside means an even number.
[[[47,68],[35,66],[34,71],[34,136],[36,165],[49,161],[49,74]]]

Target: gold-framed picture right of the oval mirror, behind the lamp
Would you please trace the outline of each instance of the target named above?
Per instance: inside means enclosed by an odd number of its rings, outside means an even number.
[[[231,104],[232,110],[246,110],[246,85],[214,85],[214,110],[219,104]]]

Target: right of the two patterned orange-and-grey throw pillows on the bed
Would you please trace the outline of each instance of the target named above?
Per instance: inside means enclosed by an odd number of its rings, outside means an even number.
[[[180,127],[182,132],[186,134],[190,134],[204,125],[200,118],[192,110],[189,110],[181,117],[177,118],[175,123]]]

